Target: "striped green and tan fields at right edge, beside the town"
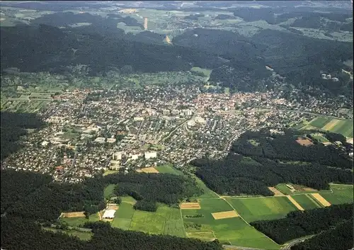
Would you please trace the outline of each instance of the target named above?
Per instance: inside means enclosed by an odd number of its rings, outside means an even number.
[[[345,137],[353,138],[353,120],[338,120],[324,117],[317,117],[309,123],[301,123],[296,128],[302,130],[319,129],[335,132]]]

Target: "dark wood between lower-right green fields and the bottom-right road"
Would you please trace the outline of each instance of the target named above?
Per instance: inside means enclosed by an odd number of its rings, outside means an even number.
[[[353,220],[353,203],[297,210],[279,220],[256,221],[251,222],[251,225],[278,244],[284,244],[291,239],[318,234],[348,220]],[[353,234],[353,224],[350,232]],[[316,244],[316,241],[314,243]]]

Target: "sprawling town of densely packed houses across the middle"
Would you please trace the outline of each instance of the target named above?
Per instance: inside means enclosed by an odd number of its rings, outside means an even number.
[[[319,115],[353,119],[353,113],[343,112],[348,110],[341,96],[299,99],[297,90],[290,98],[282,96],[282,91],[205,93],[193,84],[64,91],[40,110],[47,126],[25,135],[25,147],[1,168],[75,183],[105,171],[128,173],[224,157],[246,130],[281,130]]]

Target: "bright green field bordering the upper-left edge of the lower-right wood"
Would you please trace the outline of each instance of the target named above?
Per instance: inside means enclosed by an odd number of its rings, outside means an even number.
[[[247,222],[275,220],[297,208],[285,196],[227,199]]]

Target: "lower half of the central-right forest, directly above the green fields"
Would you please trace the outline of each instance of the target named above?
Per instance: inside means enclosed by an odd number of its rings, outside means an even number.
[[[331,169],[320,164],[282,163],[263,157],[242,157],[230,153],[224,159],[195,159],[195,174],[208,188],[226,195],[273,195],[267,187],[295,183],[318,190],[329,183],[352,183],[350,171]]]

